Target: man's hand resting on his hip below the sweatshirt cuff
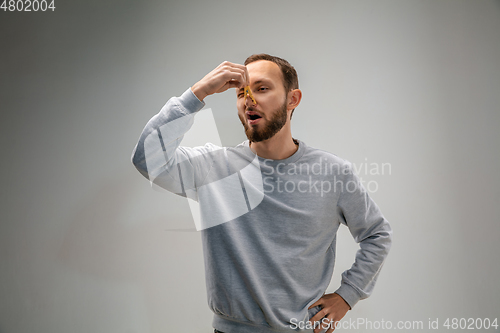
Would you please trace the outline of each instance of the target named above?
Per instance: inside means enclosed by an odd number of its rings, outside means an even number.
[[[335,330],[335,323],[344,318],[347,311],[351,309],[349,304],[339,294],[326,294],[317,300],[309,309],[320,306],[321,310],[316,313],[311,319],[311,323],[317,323],[314,333],[319,333],[323,328],[327,328],[326,333],[331,333]],[[323,319],[326,318],[327,320]]]

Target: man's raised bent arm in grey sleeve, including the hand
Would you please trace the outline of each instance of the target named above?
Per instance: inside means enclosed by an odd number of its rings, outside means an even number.
[[[186,90],[180,97],[171,98],[161,111],[147,123],[132,152],[132,163],[150,182],[171,192],[186,195],[202,178],[197,162],[210,159],[213,145],[179,147],[184,134],[191,128],[194,115],[211,94],[223,92],[247,83],[243,65],[224,62]],[[203,171],[202,171],[203,172]]]

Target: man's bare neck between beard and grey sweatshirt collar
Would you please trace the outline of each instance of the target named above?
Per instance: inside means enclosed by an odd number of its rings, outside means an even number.
[[[291,131],[283,127],[270,139],[250,142],[250,149],[262,158],[283,160],[295,154],[298,145],[295,144]]]

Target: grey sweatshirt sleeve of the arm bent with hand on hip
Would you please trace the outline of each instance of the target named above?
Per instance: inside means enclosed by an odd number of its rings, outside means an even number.
[[[342,273],[341,286],[335,293],[352,309],[359,300],[371,295],[391,247],[392,230],[349,164],[345,170],[349,171],[343,174],[337,212],[360,249],[352,267]]]

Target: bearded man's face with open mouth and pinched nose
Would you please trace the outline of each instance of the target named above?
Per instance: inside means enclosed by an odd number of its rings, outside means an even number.
[[[287,121],[287,99],[278,65],[259,60],[247,65],[250,88],[257,101],[237,90],[238,116],[248,140],[259,142],[273,137]]]

